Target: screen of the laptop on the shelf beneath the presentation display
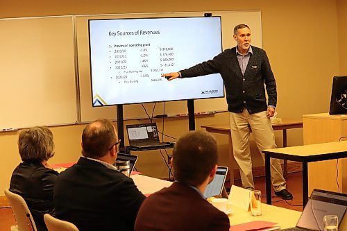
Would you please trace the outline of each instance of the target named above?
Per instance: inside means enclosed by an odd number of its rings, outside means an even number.
[[[158,142],[159,135],[156,123],[139,123],[126,126],[129,143],[138,144],[146,142]]]

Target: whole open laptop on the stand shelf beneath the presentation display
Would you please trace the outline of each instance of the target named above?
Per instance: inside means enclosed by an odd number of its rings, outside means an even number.
[[[159,141],[156,123],[138,123],[126,126],[128,132],[129,146],[131,148],[172,148],[170,142]]]

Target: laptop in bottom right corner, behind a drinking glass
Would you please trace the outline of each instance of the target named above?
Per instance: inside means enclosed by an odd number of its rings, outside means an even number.
[[[332,191],[313,189],[303,213],[295,228],[284,229],[286,231],[321,231],[324,230],[323,217],[325,215],[337,215],[341,224],[347,209],[347,194],[339,194]]]

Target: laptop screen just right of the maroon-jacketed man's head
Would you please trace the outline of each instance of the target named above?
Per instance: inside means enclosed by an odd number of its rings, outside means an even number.
[[[216,176],[214,176],[212,182],[208,184],[208,187],[206,188],[205,193],[203,194],[205,198],[221,195],[221,192],[223,191],[224,187],[224,182],[226,182],[226,173],[228,173],[227,166],[217,167]]]

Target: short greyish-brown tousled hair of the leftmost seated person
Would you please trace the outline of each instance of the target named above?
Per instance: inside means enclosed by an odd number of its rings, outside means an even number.
[[[54,155],[53,133],[46,127],[24,129],[18,137],[19,155],[25,162],[42,162]]]

